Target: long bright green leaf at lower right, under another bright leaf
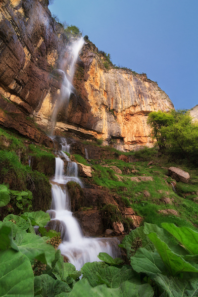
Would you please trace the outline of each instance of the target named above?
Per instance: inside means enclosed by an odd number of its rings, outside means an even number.
[[[172,276],[181,272],[198,272],[197,268],[186,262],[182,256],[176,254],[166,243],[161,241],[156,233],[149,233],[148,237],[156,247],[162,261]]]

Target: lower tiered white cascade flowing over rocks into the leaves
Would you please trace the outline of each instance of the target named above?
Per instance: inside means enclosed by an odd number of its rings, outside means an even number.
[[[71,162],[65,152],[69,152],[69,145],[61,138],[62,150],[58,151],[56,157],[55,176],[51,181],[52,203],[49,214],[51,216],[50,227],[61,232],[62,244],[59,245],[61,254],[76,266],[77,270],[86,262],[99,261],[99,252],[107,252],[113,258],[119,256],[119,241],[116,238],[85,238],[82,234],[78,221],[70,211],[70,198],[65,185],[69,181],[77,182],[81,187],[83,184],[78,178],[77,164]],[[65,152],[64,152],[65,151]],[[66,174],[64,174],[64,161],[68,163]],[[57,231],[57,230],[56,230]]]

